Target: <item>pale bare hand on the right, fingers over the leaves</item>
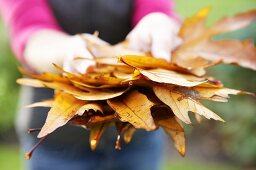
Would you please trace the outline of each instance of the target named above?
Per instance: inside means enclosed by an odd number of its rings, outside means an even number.
[[[171,60],[171,51],[181,44],[179,24],[163,13],[150,13],[126,37],[133,50],[151,52],[156,58]]]

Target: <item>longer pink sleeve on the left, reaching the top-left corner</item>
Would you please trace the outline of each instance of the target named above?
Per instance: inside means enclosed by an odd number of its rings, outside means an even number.
[[[0,0],[1,13],[10,29],[11,45],[21,63],[29,37],[40,29],[60,31],[47,0]]]

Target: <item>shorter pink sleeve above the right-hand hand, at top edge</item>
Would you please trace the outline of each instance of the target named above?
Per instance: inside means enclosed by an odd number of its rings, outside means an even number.
[[[134,0],[132,24],[135,26],[145,15],[162,12],[179,22],[173,10],[174,0]]]

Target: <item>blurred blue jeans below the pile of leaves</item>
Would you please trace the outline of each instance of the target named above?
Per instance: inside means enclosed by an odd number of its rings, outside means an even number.
[[[75,137],[79,134],[79,138]],[[159,170],[163,157],[160,131],[137,131],[130,144],[115,150],[116,133],[109,128],[96,148],[91,151],[89,131],[67,125],[46,139],[26,161],[28,170]],[[27,152],[36,142],[36,134],[21,137]]]

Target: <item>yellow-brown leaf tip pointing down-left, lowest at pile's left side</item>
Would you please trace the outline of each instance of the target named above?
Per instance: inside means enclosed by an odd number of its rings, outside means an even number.
[[[84,104],[84,101],[78,100],[70,94],[63,92],[57,94],[53,106],[48,112],[45,124],[38,134],[38,138],[42,138],[65,125]]]

